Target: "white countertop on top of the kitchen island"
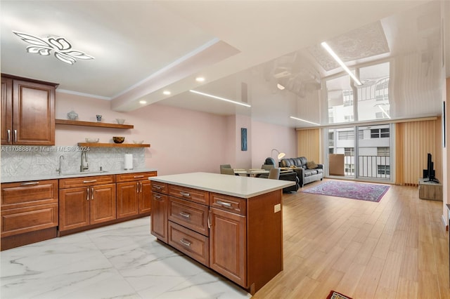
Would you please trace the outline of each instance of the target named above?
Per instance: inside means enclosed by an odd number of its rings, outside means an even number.
[[[149,179],[155,182],[167,182],[169,184],[217,192],[246,199],[295,185],[295,182],[290,180],[249,178],[246,176],[224,175],[219,173],[158,175]]]

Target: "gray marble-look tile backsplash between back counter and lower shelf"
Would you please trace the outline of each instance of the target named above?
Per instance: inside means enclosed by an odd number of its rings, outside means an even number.
[[[133,154],[133,168],[145,168],[143,147],[88,147],[77,146],[1,146],[1,176],[51,175],[59,168],[61,173],[78,173],[82,150],[86,150],[89,171],[118,171],[124,169],[124,154]]]

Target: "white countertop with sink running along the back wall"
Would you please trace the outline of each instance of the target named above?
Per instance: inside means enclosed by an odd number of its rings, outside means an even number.
[[[122,173],[143,173],[147,171],[157,171],[156,168],[140,168],[140,169],[133,169],[131,171],[124,171],[124,170],[115,170],[115,171],[86,171],[84,173],[78,172],[78,173],[69,173],[65,174],[62,173],[58,175],[58,173],[55,174],[44,174],[44,175],[18,175],[18,176],[2,176],[1,182],[27,182],[30,180],[54,180],[54,179],[60,179],[60,178],[80,178],[80,177],[87,177],[87,176],[94,176],[94,175],[115,175],[115,174],[122,174]]]

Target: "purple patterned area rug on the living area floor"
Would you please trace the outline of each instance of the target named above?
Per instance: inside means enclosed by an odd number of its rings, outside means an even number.
[[[390,186],[363,184],[360,182],[341,182],[328,180],[320,185],[303,190],[305,193],[329,195],[331,197],[346,197],[378,202],[385,195]]]

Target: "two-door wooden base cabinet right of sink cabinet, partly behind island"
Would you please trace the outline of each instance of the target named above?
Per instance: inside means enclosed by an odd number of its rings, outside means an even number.
[[[152,199],[148,178],[156,174],[156,171],[150,171],[116,175],[117,218],[150,213]]]

